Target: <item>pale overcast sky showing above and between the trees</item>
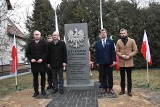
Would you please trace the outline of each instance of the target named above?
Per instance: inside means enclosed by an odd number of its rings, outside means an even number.
[[[34,0],[10,0],[13,6],[13,12],[11,15],[11,19],[15,21],[16,25],[25,32],[25,20],[26,15],[32,14],[32,4]],[[55,7],[55,4],[60,4],[61,0],[50,0],[52,7]],[[144,7],[147,6],[149,1],[160,2],[160,0],[137,0],[140,2],[140,6]]]

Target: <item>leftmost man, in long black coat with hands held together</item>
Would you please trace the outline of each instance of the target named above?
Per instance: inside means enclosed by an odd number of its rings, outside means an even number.
[[[34,40],[32,40],[26,50],[26,56],[31,63],[31,70],[33,74],[33,86],[34,95],[39,95],[38,91],[38,75],[41,75],[41,92],[42,95],[46,95],[45,92],[45,71],[46,71],[46,59],[48,54],[47,43],[45,40],[41,40],[41,33],[37,30],[34,31]]]

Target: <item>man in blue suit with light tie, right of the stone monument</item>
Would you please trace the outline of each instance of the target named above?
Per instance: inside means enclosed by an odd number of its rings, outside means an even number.
[[[109,92],[113,94],[113,66],[116,64],[116,53],[114,42],[107,38],[107,30],[100,31],[100,40],[96,42],[96,64],[102,75],[102,94],[107,92],[107,81]]]

